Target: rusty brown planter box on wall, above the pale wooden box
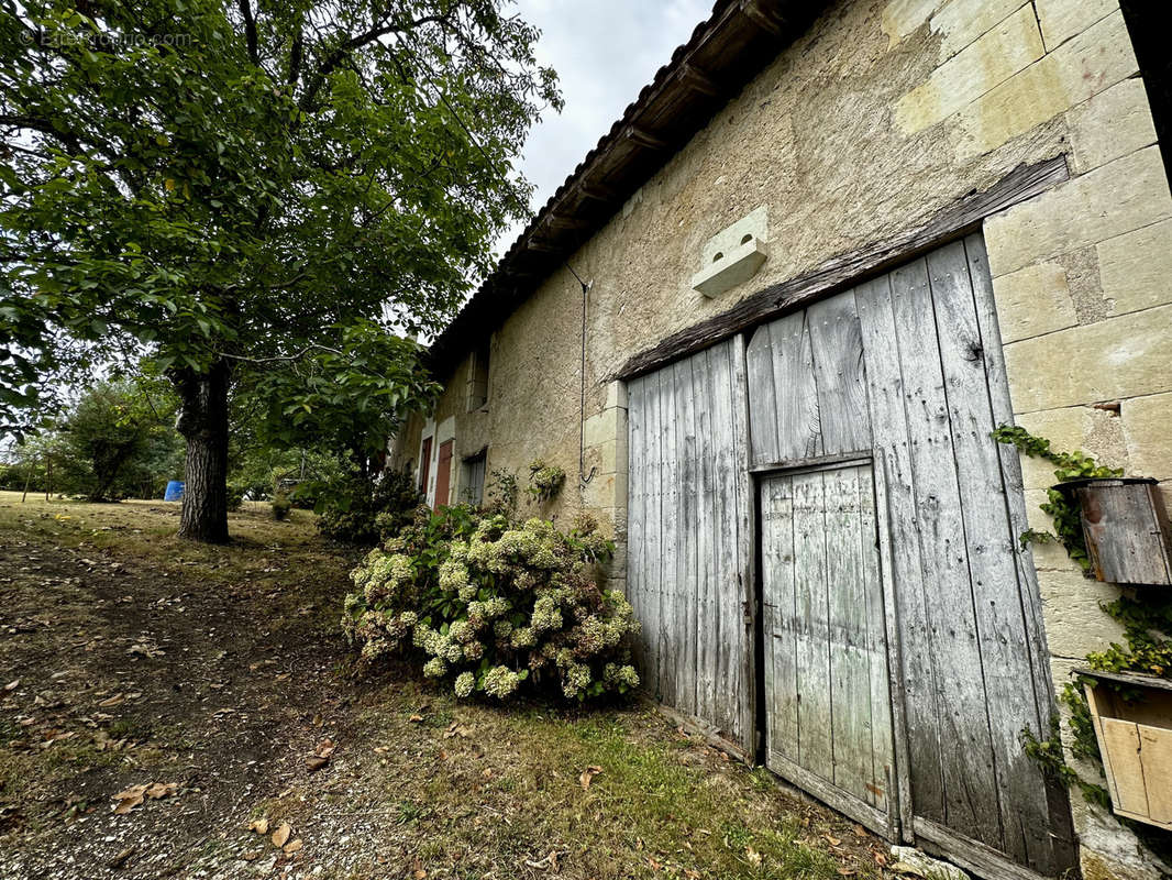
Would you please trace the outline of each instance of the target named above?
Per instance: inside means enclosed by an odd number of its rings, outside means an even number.
[[[1172,540],[1156,480],[1071,480],[1054,488],[1079,510],[1091,570],[1098,580],[1172,585]]]

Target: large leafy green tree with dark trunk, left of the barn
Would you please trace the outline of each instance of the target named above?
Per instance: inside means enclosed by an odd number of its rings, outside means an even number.
[[[274,434],[345,406],[326,374],[388,418],[427,400],[403,337],[525,215],[511,163],[559,103],[531,26],[500,0],[2,2],[0,421],[53,370],[151,353],[188,439],[180,534],[224,540],[200,497],[233,386],[274,395]]]

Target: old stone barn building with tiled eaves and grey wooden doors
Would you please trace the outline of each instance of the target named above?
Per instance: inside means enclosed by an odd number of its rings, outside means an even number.
[[[434,505],[564,468],[530,509],[613,529],[647,691],[890,840],[1159,876],[1023,751],[1120,588],[1020,546],[1054,468],[990,438],[1172,487],[1159,5],[718,0],[435,340],[393,463]]]

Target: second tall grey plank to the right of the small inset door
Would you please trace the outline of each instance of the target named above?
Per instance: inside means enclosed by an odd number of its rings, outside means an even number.
[[[997,806],[988,696],[981,665],[955,449],[925,262],[891,273],[915,485],[925,608],[939,669],[946,824],[994,848],[1003,837]]]

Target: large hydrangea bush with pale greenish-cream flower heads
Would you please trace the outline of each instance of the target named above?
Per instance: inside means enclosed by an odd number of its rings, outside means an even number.
[[[354,569],[342,625],[363,658],[416,656],[461,698],[625,693],[639,684],[628,648],[639,623],[592,577],[612,551],[588,519],[566,534],[546,520],[421,508]]]

